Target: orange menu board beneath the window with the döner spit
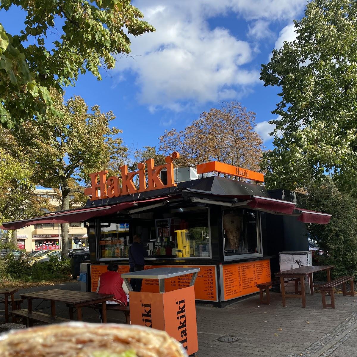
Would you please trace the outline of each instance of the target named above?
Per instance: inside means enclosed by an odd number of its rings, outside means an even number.
[[[271,280],[270,260],[221,265],[222,300],[258,292],[257,284]]]

